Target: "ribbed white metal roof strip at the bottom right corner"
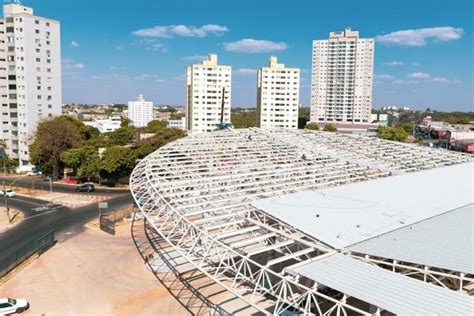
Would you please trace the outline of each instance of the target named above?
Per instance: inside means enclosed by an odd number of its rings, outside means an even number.
[[[472,315],[474,299],[342,254],[291,270],[352,297],[401,315]]]

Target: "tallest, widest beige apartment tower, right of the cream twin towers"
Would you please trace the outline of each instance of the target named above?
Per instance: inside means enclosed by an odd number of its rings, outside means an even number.
[[[310,121],[370,123],[373,64],[374,40],[350,28],[313,41]]]

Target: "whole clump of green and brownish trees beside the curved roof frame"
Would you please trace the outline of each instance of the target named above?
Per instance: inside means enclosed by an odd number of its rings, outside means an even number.
[[[140,140],[143,133],[151,135]],[[113,132],[100,134],[96,128],[63,115],[38,125],[30,158],[53,180],[64,168],[71,168],[78,179],[115,184],[130,175],[139,159],[183,136],[184,131],[166,128],[161,121],[134,129],[129,120],[123,120]]]

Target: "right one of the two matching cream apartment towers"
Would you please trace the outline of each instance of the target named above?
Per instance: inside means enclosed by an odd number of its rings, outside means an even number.
[[[257,73],[257,126],[298,128],[300,70],[270,57]]]

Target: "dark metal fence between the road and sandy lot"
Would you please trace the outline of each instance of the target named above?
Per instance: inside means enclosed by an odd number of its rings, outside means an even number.
[[[17,250],[0,260],[0,278],[7,275],[30,256],[36,253],[41,255],[52,247],[55,242],[56,240],[54,238],[53,230],[19,247]]]

